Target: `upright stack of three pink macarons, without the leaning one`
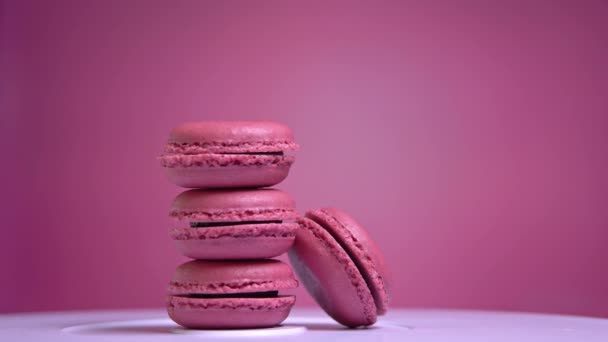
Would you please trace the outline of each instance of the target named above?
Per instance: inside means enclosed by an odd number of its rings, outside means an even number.
[[[268,259],[293,245],[295,203],[277,189],[294,162],[291,130],[274,122],[197,122],[175,127],[160,156],[171,182],[193,188],[173,201],[169,231],[194,260],[175,271],[167,310],[187,328],[280,324],[298,286],[289,265]]]

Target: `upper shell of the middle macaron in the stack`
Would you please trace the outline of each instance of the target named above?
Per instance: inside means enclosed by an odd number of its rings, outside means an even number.
[[[182,192],[169,216],[179,222],[253,222],[293,220],[295,202],[276,189],[202,190]]]

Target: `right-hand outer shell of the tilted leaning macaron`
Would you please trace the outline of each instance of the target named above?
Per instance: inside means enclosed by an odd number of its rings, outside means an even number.
[[[382,315],[388,310],[387,267],[380,249],[355,219],[335,208],[311,210],[306,217],[325,228],[350,255],[367,282]]]

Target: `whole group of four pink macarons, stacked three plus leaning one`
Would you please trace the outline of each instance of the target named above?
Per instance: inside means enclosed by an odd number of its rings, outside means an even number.
[[[176,185],[170,236],[195,259],[169,284],[169,316],[187,328],[280,324],[295,303],[291,267],[269,259],[289,252],[317,303],[348,327],[369,326],[388,308],[388,271],[361,224],[335,208],[298,215],[281,182],[297,149],[274,122],[198,122],[171,131],[161,165]]]

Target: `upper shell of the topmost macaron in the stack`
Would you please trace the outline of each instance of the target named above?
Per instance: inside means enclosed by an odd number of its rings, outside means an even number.
[[[295,150],[289,127],[271,121],[189,122],[175,127],[165,152],[267,153]]]

